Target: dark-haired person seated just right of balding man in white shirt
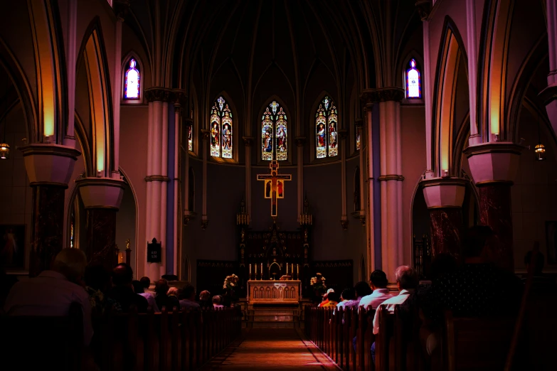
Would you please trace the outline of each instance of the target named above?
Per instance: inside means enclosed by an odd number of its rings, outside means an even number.
[[[106,295],[112,289],[112,272],[100,262],[92,262],[85,267],[85,285],[93,314],[122,311],[120,303]]]

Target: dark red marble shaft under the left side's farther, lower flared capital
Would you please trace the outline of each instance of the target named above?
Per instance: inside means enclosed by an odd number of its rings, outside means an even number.
[[[87,262],[100,262],[108,269],[117,264],[116,213],[113,208],[87,209]]]

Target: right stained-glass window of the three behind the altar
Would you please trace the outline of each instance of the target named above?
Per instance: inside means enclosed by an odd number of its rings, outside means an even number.
[[[315,114],[315,149],[317,158],[334,157],[339,154],[339,118],[336,106],[329,97],[319,104]]]

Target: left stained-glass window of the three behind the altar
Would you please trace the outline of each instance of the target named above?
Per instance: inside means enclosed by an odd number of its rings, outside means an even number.
[[[223,97],[211,108],[211,156],[232,158],[232,112]]]

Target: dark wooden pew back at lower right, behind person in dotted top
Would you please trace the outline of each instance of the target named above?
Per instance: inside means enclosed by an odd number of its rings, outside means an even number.
[[[443,370],[504,370],[516,318],[455,318],[445,312]]]

